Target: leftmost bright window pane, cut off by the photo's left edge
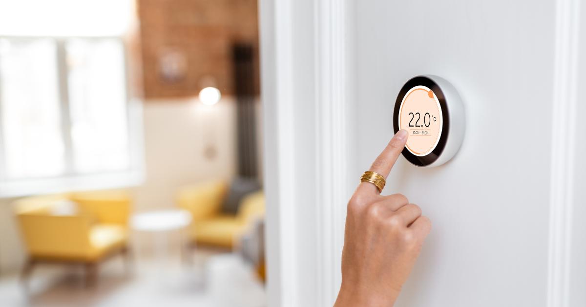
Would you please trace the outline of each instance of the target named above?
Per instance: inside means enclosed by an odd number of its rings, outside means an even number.
[[[4,177],[65,170],[56,48],[50,40],[0,40]]]

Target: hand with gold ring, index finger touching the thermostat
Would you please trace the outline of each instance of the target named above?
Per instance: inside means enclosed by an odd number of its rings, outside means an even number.
[[[387,177],[407,142],[395,134],[370,171]],[[392,306],[407,280],[431,223],[401,194],[379,195],[361,182],[348,202],[342,251],[342,287],[335,307]]]

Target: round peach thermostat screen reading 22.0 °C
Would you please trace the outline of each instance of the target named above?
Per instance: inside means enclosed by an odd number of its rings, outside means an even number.
[[[418,85],[403,97],[398,115],[399,129],[409,132],[407,149],[426,156],[440,142],[442,112],[440,101],[430,88]]]

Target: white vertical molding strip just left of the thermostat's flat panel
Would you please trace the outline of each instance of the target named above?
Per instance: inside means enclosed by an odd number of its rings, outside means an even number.
[[[346,0],[316,2],[315,101],[318,180],[318,304],[331,306],[342,280],[340,267],[349,198],[348,50]]]

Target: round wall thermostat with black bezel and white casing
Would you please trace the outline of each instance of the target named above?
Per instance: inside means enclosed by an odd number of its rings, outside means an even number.
[[[418,75],[407,81],[393,112],[395,133],[409,133],[403,156],[421,167],[450,160],[464,138],[464,106],[456,89],[435,75]]]

